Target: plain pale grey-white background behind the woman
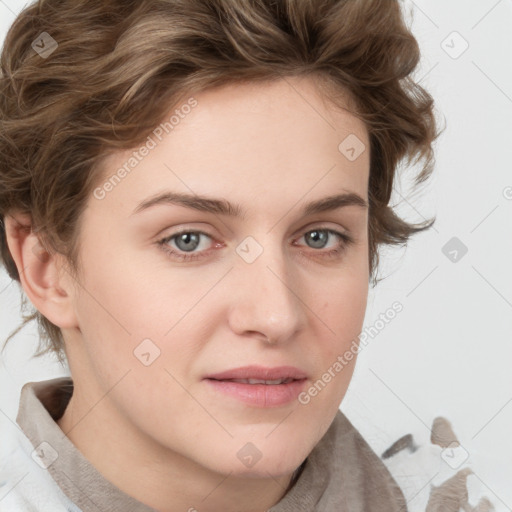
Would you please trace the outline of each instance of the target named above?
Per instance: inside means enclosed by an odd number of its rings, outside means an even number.
[[[0,0],[1,40],[23,5]],[[511,510],[512,0],[405,5],[422,50],[417,79],[446,130],[429,184],[412,196],[404,171],[393,202],[410,221],[437,221],[406,249],[385,252],[388,277],[370,290],[365,327],[394,301],[403,311],[361,351],[341,409],[378,454],[406,433],[428,445],[433,419],[446,417],[477,475],[470,501],[478,487],[496,510]],[[453,237],[468,249],[457,262],[442,251]],[[2,271],[0,339],[19,323],[18,286]],[[1,359],[0,439],[16,428],[25,382],[68,374],[51,358],[31,360],[36,346],[35,326],[26,327]],[[426,467],[428,489],[435,475]],[[413,498],[420,483],[413,493],[411,475],[398,476],[411,510],[424,510]]]

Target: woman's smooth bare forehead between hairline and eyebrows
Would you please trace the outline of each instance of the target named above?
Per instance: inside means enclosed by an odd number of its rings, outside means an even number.
[[[129,171],[105,202],[135,208],[164,190],[229,197],[240,204],[251,199],[254,207],[348,190],[366,198],[366,127],[343,106],[326,101],[314,78],[229,84],[192,99],[169,110],[157,127],[160,135],[149,136],[152,149],[133,167],[127,165],[133,150],[105,160],[100,185],[122,167]],[[183,108],[190,104],[195,106]],[[357,158],[346,152],[354,143]]]

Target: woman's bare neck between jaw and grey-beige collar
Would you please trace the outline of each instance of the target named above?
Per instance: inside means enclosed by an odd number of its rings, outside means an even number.
[[[288,492],[303,467],[280,478],[214,472],[141,436],[108,397],[97,402],[94,414],[87,403],[75,388],[57,424],[107,480],[159,512],[264,512]]]

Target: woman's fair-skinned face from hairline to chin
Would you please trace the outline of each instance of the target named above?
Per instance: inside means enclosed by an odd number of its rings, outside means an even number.
[[[326,432],[354,369],[355,357],[335,363],[363,324],[368,210],[308,205],[367,201],[367,132],[311,79],[210,90],[173,114],[146,150],[109,157],[83,214],[77,325],[64,330],[77,396],[101,397],[108,427],[162,459],[284,475]],[[305,379],[206,378],[248,365]]]

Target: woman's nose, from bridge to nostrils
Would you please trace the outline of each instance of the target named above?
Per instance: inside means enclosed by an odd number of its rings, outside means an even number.
[[[252,263],[235,258],[229,324],[240,336],[284,343],[304,328],[307,307],[292,261],[275,245],[267,244]]]

